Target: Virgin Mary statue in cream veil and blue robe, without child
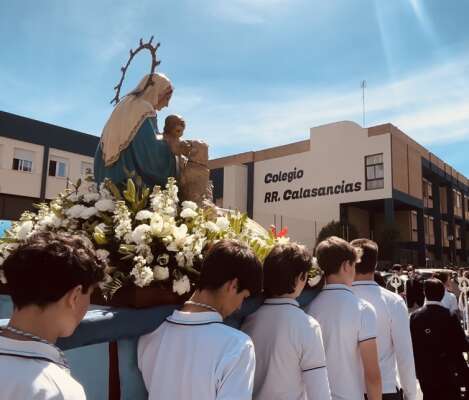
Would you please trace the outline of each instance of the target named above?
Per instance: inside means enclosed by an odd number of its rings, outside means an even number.
[[[144,92],[148,75],[114,108],[104,126],[94,157],[94,177],[124,184],[135,171],[149,188],[165,186],[176,177],[176,159],[168,143],[157,137],[156,112],[166,107],[173,87],[163,74],[151,75],[153,84]],[[138,94],[136,94],[138,93]]]

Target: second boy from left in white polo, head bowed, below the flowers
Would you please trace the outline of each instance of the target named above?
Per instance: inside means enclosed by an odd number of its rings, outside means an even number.
[[[149,400],[250,400],[254,346],[223,318],[261,289],[262,267],[247,246],[230,240],[213,245],[191,300],[139,340]]]

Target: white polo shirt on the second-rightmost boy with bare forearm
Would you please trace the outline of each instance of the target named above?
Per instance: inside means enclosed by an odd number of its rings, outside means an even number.
[[[326,285],[307,307],[322,330],[333,400],[363,400],[359,343],[376,338],[376,313],[346,285]]]

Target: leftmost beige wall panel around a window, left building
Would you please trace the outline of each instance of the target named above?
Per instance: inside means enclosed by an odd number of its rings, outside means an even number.
[[[15,149],[32,152],[32,171],[12,169]],[[0,136],[0,193],[39,197],[44,149],[42,146]]]

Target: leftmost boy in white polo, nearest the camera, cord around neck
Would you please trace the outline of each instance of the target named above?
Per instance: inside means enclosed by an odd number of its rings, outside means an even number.
[[[15,308],[0,330],[0,399],[85,400],[54,342],[73,333],[103,279],[91,244],[36,234],[2,268]]]

